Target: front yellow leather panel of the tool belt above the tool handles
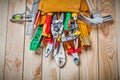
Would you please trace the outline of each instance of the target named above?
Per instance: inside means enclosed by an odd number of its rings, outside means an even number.
[[[79,12],[81,0],[41,0],[38,9],[42,13]]]

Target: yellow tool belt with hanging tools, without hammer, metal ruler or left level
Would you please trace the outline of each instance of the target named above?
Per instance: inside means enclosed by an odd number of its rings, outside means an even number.
[[[33,46],[31,50],[37,50],[43,42],[45,56],[53,53],[59,67],[65,65],[65,53],[74,58],[75,64],[79,64],[78,53],[82,48],[91,46],[89,37],[91,27],[77,19],[79,14],[89,17],[86,2],[84,0],[41,0],[38,12],[41,16],[37,20],[38,27],[31,42]]]

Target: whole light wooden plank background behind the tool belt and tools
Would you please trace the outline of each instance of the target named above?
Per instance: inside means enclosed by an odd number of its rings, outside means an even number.
[[[94,2],[94,0],[91,0]],[[82,50],[80,65],[67,55],[64,68],[58,68],[44,49],[30,51],[32,36],[26,36],[27,23],[11,23],[15,13],[32,8],[33,0],[0,0],[0,80],[119,80],[120,79],[120,0],[98,0],[102,16],[113,22],[93,27],[92,48]]]

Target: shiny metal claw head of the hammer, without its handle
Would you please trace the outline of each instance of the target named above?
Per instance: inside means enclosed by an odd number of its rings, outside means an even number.
[[[78,16],[78,18],[80,20],[82,20],[83,22],[87,23],[88,25],[91,25],[91,26],[112,21],[111,15],[102,17],[99,13],[92,14],[92,18],[89,18],[89,17],[86,17],[86,16],[80,14]]]

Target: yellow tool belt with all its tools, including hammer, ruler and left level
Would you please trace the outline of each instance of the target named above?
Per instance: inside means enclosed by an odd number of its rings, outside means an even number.
[[[45,57],[52,55],[58,67],[65,65],[66,54],[73,57],[75,64],[79,64],[81,49],[91,47],[91,26],[110,22],[112,16],[102,17],[98,11],[93,12],[93,6],[89,0],[74,0],[73,4],[65,0],[71,6],[63,5],[64,1],[56,6],[59,0],[56,0],[56,3],[55,0],[50,1],[34,0],[32,11],[27,7],[30,12],[29,16],[24,16],[25,13],[15,14],[11,21],[29,22],[27,34],[33,33],[30,50],[36,51],[43,43],[45,48],[43,54]],[[82,4],[77,6],[79,1]]]

